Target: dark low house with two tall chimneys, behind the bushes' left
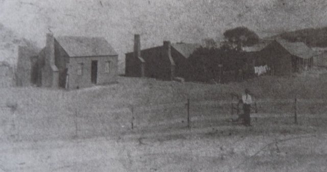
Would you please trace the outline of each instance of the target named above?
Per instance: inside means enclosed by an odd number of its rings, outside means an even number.
[[[126,53],[125,75],[172,80],[190,75],[188,58],[200,45],[164,41],[162,46],[141,50],[139,35],[134,37],[134,51]]]

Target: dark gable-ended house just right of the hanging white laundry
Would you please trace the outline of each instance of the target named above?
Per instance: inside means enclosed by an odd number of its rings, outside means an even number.
[[[313,66],[316,55],[305,43],[286,40],[273,40],[260,53],[272,75],[290,75],[307,70]]]

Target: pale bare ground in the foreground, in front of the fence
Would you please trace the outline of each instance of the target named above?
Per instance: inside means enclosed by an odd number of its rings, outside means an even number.
[[[3,171],[326,171],[325,126],[155,127],[122,136],[0,143]]]

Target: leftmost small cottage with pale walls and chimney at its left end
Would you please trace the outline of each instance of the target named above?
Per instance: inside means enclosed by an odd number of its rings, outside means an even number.
[[[118,53],[102,37],[54,37],[46,34],[39,53],[38,84],[78,89],[114,82]]]

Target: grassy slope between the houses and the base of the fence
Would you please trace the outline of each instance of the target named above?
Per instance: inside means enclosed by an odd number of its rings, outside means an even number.
[[[17,118],[15,125],[21,129],[18,133],[21,139],[71,138],[74,134],[83,138],[94,137],[103,134],[102,127],[99,128],[101,125],[107,128],[107,134],[118,135],[130,126],[132,111],[136,126],[185,120],[188,98],[193,118],[200,121],[211,117],[226,119],[231,117],[230,93],[240,95],[244,88],[249,88],[258,100],[260,116],[265,113],[289,115],[294,97],[301,100],[299,113],[322,115],[326,110],[326,85],[323,80],[300,77],[267,76],[230,84],[121,77],[116,84],[68,92],[44,88],[0,89],[0,105],[3,107],[0,122],[4,129],[0,139],[17,132],[17,128],[10,130],[13,118]],[[12,113],[5,107],[13,103],[17,103],[17,109]],[[78,125],[78,131],[75,125]]]

